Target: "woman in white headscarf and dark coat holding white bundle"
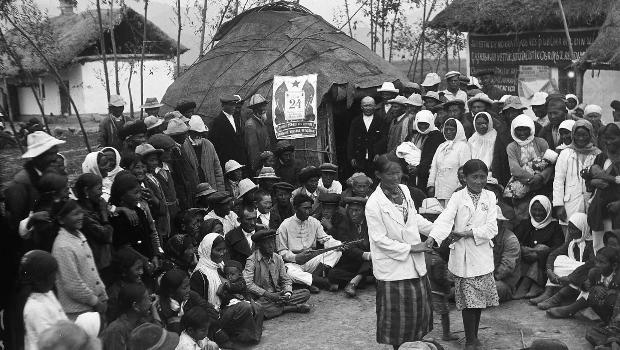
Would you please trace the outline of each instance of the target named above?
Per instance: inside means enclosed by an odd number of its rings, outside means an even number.
[[[422,151],[420,164],[407,165],[406,169],[410,176],[410,186],[415,186],[427,193],[428,172],[433,162],[435,151],[446,141],[441,131],[435,126],[435,116],[428,110],[423,110],[415,115],[414,128],[405,138],[405,142],[412,142]]]

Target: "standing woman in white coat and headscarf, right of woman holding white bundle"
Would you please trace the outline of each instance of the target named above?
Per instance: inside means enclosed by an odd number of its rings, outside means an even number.
[[[443,125],[443,136],[447,141],[439,145],[428,173],[428,196],[435,197],[443,208],[454,190],[461,184],[459,167],[471,159],[471,149],[465,138],[465,129],[460,121],[449,118]]]

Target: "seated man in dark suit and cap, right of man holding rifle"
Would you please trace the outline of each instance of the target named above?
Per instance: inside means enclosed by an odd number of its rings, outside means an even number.
[[[330,284],[345,286],[345,293],[350,297],[355,297],[355,289],[358,286],[364,287],[366,277],[370,276],[373,271],[368,224],[365,220],[366,199],[348,197],[345,203],[348,218],[340,224],[334,238],[338,238],[343,243],[355,240],[364,241],[350,245],[347,250],[344,250],[340,261],[327,273],[327,278]]]

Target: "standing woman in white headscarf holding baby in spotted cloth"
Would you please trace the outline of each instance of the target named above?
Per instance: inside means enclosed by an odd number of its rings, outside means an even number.
[[[551,175],[553,175],[553,164],[537,175],[532,175],[523,168],[530,160],[542,157],[544,152],[549,149],[547,141],[534,137],[534,121],[532,118],[524,114],[517,116],[510,125],[510,135],[515,140],[506,147],[510,173],[518,181],[529,185],[531,188],[523,198],[513,198],[516,219],[523,220],[529,217],[529,201],[534,195],[541,192],[542,187],[549,182]]]

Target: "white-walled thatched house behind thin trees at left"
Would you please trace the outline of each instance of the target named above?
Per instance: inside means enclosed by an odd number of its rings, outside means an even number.
[[[107,94],[105,91],[105,74],[102,56],[100,55],[99,21],[95,10],[73,13],[70,6],[63,6],[63,14],[50,18],[50,25],[56,34],[60,75],[80,115],[99,115],[107,113]],[[120,95],[125,98],[130,112],[131,100],[135,112],[139,112],[140,101],[140,74],[139,62],[141,56],[142,33],[144,17],[130,7],[115,9],[113,12],[114,37],[117,45],[118,82]],[[110,37],[109,11],[102,10],[102,24],[104,27],[105,51],[107,53],[107,68],[110,81],[110,94],[116,93],[114,60],[112,55],[112,40]],[[174,58],[176,56],[176,41],[147,21],[146,55],[144,58],[144,98],[161,97],[167,87],[172,84],[174,77]],[[13,34],[15,35],[15,34]],[[11,40],[11,35],[7,35]],[[16,42],[17,40],[15,40]],[[28,48],[25,48],[29,51]],[[188,49],[180,46],[183,53]],[[0,68],[0,76],[6,77],[8,95],[14,116],[20,120],[28,116],[40,116],[40,108],[33,93],[38,94],[46,115],[73,115],[74,108],[69,98],[49,74],[44,61],[36,55],[22,53],[24,71],[7,64],[4,60],[4,70]],[[130,70],[133,66],[133,73]],[[32,77],[32,79],[30,79]],[[0,88],[4,85],[0,85]],[[4,90],[4,89],[1,89]],[[2,92],[2,91],[0,91]],[[2,100],[0,99],[0,103]]]

